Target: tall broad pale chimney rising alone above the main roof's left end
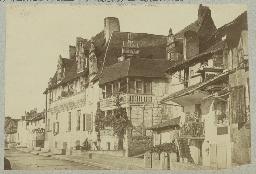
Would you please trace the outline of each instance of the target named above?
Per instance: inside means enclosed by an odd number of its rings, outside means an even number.
[[[104,32],[106,42],[109,40],[112,31],[120,31],[119,19],[116,17],[107,17],[104,19]]]

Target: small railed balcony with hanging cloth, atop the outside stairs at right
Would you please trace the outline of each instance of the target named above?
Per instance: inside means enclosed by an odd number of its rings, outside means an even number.
[[[183,124],[180,128],[180,136],[183,139],[204,139],[204,123],[195,122]]]

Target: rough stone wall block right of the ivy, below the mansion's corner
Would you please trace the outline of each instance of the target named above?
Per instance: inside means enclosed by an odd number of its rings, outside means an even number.
[[[128,157],[142,154],[151,150],[153,145],[153,136],[128,136]]]

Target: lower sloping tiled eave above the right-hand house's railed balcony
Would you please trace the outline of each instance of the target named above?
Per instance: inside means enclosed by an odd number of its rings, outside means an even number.
[[[161,100],[161,102],[171,100],[171,99],[174,99],[174,98],[177,98],[177,97],[180,97],[180,96],[188,95],[192,92],[195,92],[196,90],[200,90],[200,89],[204,88],[205,86],[211,85],[212,83],[228,76],[229,74],[233,73],[235,70],[236,69],[217,74],[217,75],[213,76],[212,78],[208,79],[207,81],[197,83],[197,84],[189,86],[189,87],[187,87],[187,88],[185,88],[181,91],[175,92],[175,93],[171,94],[170,96],[167,96],[166,98],[163,98]]]

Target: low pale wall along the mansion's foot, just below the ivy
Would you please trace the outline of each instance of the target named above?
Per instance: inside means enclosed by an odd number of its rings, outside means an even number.
[[[84,155],[87,157],[89,153],[92,154],[103,154],[103,155],[114,155],[114,156],[127,156],[127,150],[73,150],[74,156],[81,156]]]

